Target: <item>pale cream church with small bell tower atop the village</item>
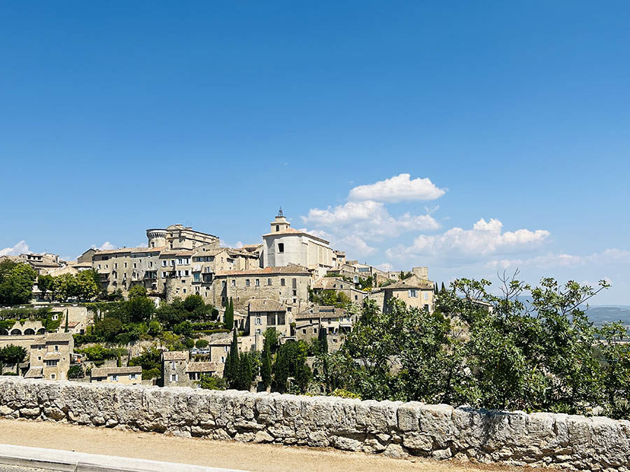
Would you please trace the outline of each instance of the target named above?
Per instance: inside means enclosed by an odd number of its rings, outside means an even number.
[[[307,267],[316,276],[325,276],[332,262],[330,243],[323,238],[290,227],[282,209],[262,235],[262,266],[281,267],[296,264]]]

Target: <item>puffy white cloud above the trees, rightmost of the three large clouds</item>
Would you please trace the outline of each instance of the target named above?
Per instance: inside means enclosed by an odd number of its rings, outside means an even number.
[[[496,219],[477,221],[472,229],[451,228],[437,236],[420,235],[411,246],[398,245],[386,250],[390,259],[404,259],[414,255],[428,255],[443,259],[474,261],[489,255],[517,252],[542,244],[549,231],[519,229],[505,231],[503,223]]]

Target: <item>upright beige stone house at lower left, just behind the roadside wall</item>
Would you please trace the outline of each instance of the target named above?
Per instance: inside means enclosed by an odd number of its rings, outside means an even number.
[[[74,338],[71,333],[46,333],[30,345],[27,378],[67,380],[73,362]]]

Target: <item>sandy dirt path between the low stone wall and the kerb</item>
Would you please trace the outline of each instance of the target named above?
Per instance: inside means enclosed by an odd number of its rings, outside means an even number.
[[[0,443],[88,452],[244,471],[517,471],[426,459],[390,459],[360,452],[176,438],[55,422],[0,420]]]

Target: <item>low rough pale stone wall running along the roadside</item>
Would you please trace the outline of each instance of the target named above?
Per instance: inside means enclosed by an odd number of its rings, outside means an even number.
[[[321,396],[0,379],[0,415],[255,443],[629,471],[630,422]]]

